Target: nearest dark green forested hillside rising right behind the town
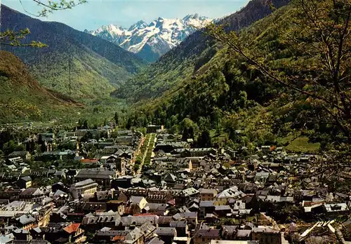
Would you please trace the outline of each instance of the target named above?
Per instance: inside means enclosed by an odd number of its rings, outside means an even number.
[[[326,22],[333,16],[323,11],[319,14],[321,21]],[[347,136],[350,105],[343,103],[350,95],[347,89],[350,36],[342,39],[340,56],[328,57],[329,60],[343,57],[340,78],[336,80],[331,75],[333,69],[330,72],[320,61],[326,54],[313,49],[314,37],[305,38],[312,29],[306,27],[312,23],[299,16],[300,8],[284,6],[243,29],[238,36],[218,34],[225,36],[225,41],[220,42],[225,46],[218,46],[217,52],[208,49],[216,53],[210,60],[183,77],[178,87],[149,104],[135,105],[136,111],[141,109],[147,121],[164,123],[167,128],[183,132],[185,138],[208,137],[208,131],[216,130],[216,136],[223,136],[225,144],[235,148],[275,144],[292,149],[303,143],[302,148],[307,151],[314,145],[313,151],[319,148],[319,143],[324,149],[342,145],[350,140]],[[296,24],[299,21],[305,22],[299,27]],[[345,28],[345,22],[338,21],[338,28]],[[218,29],[207,32],[213,36],[220,33]],[[338,36],[334,38],[338,40]],[[241,50],[245,56],[239,53]],[[340,87],[341,98],[334,94],[332,79]],[[129,122],[140,126],[143,119],[139,115],[133,121],[132,116]]]

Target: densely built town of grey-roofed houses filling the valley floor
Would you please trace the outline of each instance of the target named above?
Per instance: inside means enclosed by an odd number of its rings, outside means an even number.
[[[199,148],[152,125],[12,126],[1,140],[0,243],[351,241],[349,172],[335,180],[323,155]]]

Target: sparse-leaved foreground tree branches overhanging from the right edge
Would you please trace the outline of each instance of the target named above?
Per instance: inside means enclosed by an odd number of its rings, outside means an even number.
[[[300,62],[286,60],[278,69],[256,40],[240,39],[236,33],[226,34],[214,26],[208,33],[244,58],[252,69],[307,99],[310,107],[322,114],[324,123],[335,123],[350,138],[350,2],[296,0],[287,15],[289,22],[284,19],[281,25],[273,26],[290,59]],[[316,120],[315,115],[309,116],[309,122]],[[321,118],[317,119],[320,123]]]

